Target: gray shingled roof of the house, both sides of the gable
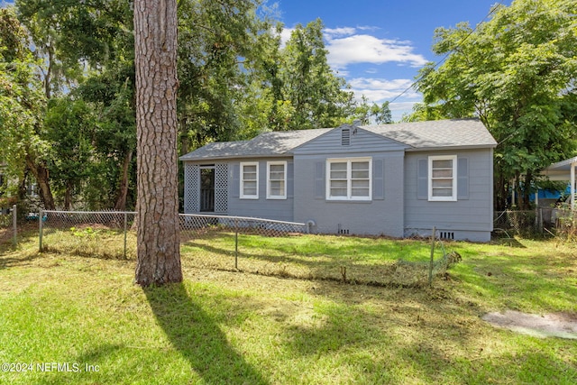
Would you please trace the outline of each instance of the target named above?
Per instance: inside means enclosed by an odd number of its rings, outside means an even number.
[[[414,150],[440,148],[487,148],[497,142],[478,119],[366,125],[360,128]],[[250,141],[213,142],[180,157],[180,160],[270,157],[290,155],[298,146],[334,128],[261,133]]]

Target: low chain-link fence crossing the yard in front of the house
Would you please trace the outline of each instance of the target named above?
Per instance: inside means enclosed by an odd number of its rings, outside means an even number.
[[[42,211],[41,252],[135,260],[136,213]],[[380,287],[426,287],[460,261],[436,236],[410,246],[379,237],[311,234],[311,225],[179,215],[183,267]],[[433,233],[435,234],[435,233]]]

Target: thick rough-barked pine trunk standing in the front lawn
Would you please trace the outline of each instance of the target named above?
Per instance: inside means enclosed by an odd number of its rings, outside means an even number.
[[[177,168],[177,3],[134,1],[138,261],[142,286],[182,281]]]

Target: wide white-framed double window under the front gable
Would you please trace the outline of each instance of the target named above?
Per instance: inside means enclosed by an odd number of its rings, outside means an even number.
[[[371,200],[371,158],[326,160],[327,200]]]

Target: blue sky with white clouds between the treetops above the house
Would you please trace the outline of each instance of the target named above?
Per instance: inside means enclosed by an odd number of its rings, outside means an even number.
[[[278,0],[287,35],[296,24],[320,18],[325,24],[329,64],[353,87],[355,96],[378,104],[405,91],[432,51],[437,27],[474,26],[491,5],[511,0]],[[412,89],[390,105],[393,120],[421,100]]]

